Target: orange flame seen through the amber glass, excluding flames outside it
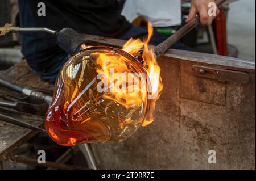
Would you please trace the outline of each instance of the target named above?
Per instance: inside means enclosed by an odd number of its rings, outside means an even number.
[[[125,57],[113,53],[92,53],[92,56],[97,56],[96,64],[100,65],[100,68],[96,71],[105,75],[106,87],[110,87],[109,93],[103,95],[104,98],[114,100],[127,109],[141,106],[146,94],[143,94],[145,93],[143,85],[133,83],[133,81],[139,82],[139,77],[129,74],[129,64],[127,64],[129,60],[123,60]],[[129,83],[130,80],[132,82]]]

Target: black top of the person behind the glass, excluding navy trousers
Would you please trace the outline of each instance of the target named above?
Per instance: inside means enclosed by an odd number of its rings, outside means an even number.
[[[46,16],[38,16],[39,2],[45,3]],[[53,30],[69,27],[99,36],[116,37],[131,26],[120,12],[117,0],[19,0],[22,26]]]

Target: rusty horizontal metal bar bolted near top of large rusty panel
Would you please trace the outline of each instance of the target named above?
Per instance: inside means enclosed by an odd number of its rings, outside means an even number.
[[[250,82],[250,75],[247,73],[241,71],[217,69],[201,65],[192,65],[192,74],[196,77],[214,79],[220,82]]]

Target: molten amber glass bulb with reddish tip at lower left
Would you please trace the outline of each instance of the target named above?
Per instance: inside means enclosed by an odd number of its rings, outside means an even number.
[[[102,55],[110,57],[110,60],[101,61],[120,63],[116,64],[115,73],[146,74],[141,62],[120,49],[92,47],[69,58],[57,78],[45,121],[49,136],[57,144],[73,146],[85,142],[119,142],[126,140],[142,125],[150,108],[150,99],[136,98],[142,92],[135,97],[131,94],[131,106],[124,106],[126,102],[122,102],[122,97],[118,102],[109,92],[97,91],[97,83],[101,80],[96,77],[102,69],[98,61]],[[150,86],[147,81],[140,81],[142,85]]]

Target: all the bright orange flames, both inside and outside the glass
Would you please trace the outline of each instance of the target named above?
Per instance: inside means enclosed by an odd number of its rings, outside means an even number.
[[[140,39],[129,39],[122,47],[127,53],[136,54],[144,47],[142,58],[144,60],[144,66],[146,68],[148,77],[151,82],[151,105],[150,110],[147,113],[146,120],[144,120],[142,126],[146,126],[154,121],[154,110],[156,100],[159,99],[160,93],[163,89],[162,78],[160,77],[160,67],[155,58],[154,48],[150,47],[148,43],[153,34],[153,28],[150,23],[148,23],[148,37],[141,41]],[[82,46],[83,49],[88,48],[86,45]],[[147,99],[146,97],[146,89],[144,86],[139,85],[139,77],[135,75],[126,74],[123,77],[118,77],[118,72],[129,73],[129,67],[127,64],[122,63],[126,62],[126,60],[120,61],[120,58],[124,58],[119,54],[110,54],[110,53],[93,53],[92,56],[97,57],[96,64],[100,65],[100,68],[97,69],[98,73],[102,75],[106,75],[105,83],[108,87],[112,87],[109,94],[105,94],[104,97],[107,99],[114,100],[125,106],[127,109],[135,108],[141,106],[142,102]],[[107,60],[107,61],[106,61]],[[129,60],[127,60],[129,62]],[[110,72],[111,69],[115,69],[113,73]],[[131,76],[131,77],[129,77]],[[118,77],[118,78],[117,78]],[[129,78],[133,79],[133,83],[130,85],[127,80]],[[111,86],[113,85],[113,86]],[[118,89],[118,87],[126,86],[126,91],[123,89]],[[129,92],[127,90],[133,90],[133,92]],[[126,123],[129,124],[129,117],[126,118]]]

